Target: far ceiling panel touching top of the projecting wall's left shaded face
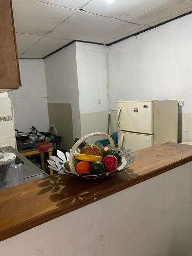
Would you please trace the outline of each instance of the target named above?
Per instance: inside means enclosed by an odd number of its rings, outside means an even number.
[[[26,56],[40,55],[45,57],[51,52],[69,44],[69,40],[55,39],[50,37],[42,37],[36,45],[34,45],[29,51],[26,52]]]

